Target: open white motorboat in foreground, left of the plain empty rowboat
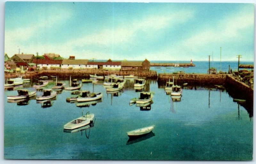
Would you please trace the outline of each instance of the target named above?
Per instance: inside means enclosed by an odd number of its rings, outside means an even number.
[[[76,118],[64,125],[64,129],[73,130],[77,128],[81,128],[85,125],[88,125],[93,122],[94,114],[89,114],[87,112],[85,115],[82,114],[81,117]]]

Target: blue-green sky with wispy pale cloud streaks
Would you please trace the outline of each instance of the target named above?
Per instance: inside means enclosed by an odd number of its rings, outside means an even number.
[[[114,60],[253,61],[254,6],[6,2],[4,52]],[[211,57],[212,59],[212,57]]]

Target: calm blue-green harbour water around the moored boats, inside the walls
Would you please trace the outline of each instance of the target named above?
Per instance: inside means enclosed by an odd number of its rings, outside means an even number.
[[[103,92],[102,101],[89,107],[67,103],[67,90],[47,108],[35,99],[28,105],[7,103],[7,95],[17,91],[4,91],[4,158],[252,159],[253,118],[226,91],[188,86],[183,88],[180,102],[173,102],[162,85],[147,80],[145,90],[155,94],[151,108],[143,110],[129,105],[129,100],[139,95],[132,85],[133,81],[127,81],[122,92],[107,94],[103,85],[83,84],[82,90]],[[95,114],[94,126],[76,133],[63,132],[63,125],[81,116],[82,111]],[[156,125],[152,133],[129,140],[127,131],[149,125]]]

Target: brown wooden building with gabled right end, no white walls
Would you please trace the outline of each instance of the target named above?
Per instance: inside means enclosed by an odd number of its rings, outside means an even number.
[[[122,71],[149,71],[150,62],[145,59],[144,61],[122,61]]]

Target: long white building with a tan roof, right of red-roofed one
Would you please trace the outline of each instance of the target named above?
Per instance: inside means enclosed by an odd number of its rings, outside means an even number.
[[[87,68],[87,59],[63,59],[61,68]]]

